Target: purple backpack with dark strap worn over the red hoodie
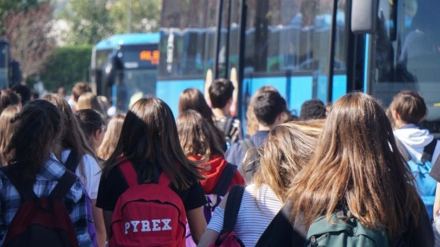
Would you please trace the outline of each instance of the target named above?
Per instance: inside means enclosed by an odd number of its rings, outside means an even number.
[[[227,163],[223,172],[220,175],[220,179],[216,184],[216,187],[213,190],[213,193],[210,195],[205,195],[208,203],[203,206],[203,213],[205,215],[206,223],[209,223],[211,217],[214,214],[214,210],[220,204],[223,197],[227,194],[227,189],[234,179],[235,172],[237,171],[237,166]],[[196,247],[197,244],[194,243],[191,236],[190,227],[187,223],[187,247]]]

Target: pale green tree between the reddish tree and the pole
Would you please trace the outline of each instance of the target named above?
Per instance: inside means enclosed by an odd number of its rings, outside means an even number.
[[[95,44],[113,34],[107,0],[70,0],[59,18],[71,25],[66,40],[70,44]]]

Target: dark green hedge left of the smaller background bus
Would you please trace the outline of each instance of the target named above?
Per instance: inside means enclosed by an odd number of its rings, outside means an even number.
[[[70,92],[76,82],[87,81],[92,48],[90,45],[57,47],[41,75],[44,87],[55,91],[63,86]]]

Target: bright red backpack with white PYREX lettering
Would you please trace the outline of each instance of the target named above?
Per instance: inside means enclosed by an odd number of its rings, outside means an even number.
[[[157,184],[139,184],[130,161],[123,161],[119,169],[128,189],[113,212],[109,247],[185,246],[185,207],[165,173]]]

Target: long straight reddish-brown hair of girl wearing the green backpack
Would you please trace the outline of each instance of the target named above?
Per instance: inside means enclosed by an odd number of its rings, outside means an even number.
[[[347,209],[364,226],[398,236],[422,207],[413,179],[380,104],[348,93],[334,103],[314,158],[293,182],[292,215],[303,213],[310,226]]]

